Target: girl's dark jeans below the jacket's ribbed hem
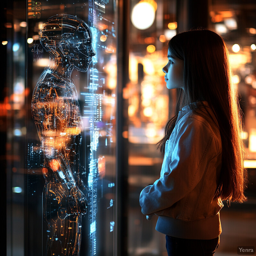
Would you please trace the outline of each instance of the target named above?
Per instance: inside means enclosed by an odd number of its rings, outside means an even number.
[[[213,256],[220,236],[210,240],[184,239],[165,236],[168,256]]]

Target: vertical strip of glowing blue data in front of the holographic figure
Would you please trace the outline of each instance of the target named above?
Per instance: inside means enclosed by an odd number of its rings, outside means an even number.
[[[106,177],[107,172],[110,172],[107,156],[113,154],[116,121],[115,86],[110,84],[110,76],[116,80],[116,31],[113,22],[115,17],[112,13],[115,10],[115,1],[89,0],[88,4],[88,23],[92,30],[92,46],[96,55],[92,58],[92,65],[88,70],[90,74],[88,87],[81,95],[84,96],[83,117],[90,126],[91,136],[88,172],[91,250],[88,255],[94,256],[100,255],[100,248],[105,246],[104,240],[108,241],[105,243],[112,244],[115,239],[115,183],[113,182],[115,167],[113,165],[111,166],[113,176],[108,176],[108,179]],[[101,38],[104,40],[102,41]],[[106,194],[113,195],[107,202],[103,198]],[[104,225],[99,220],[104,220]],[[111,250],[105,253],[104,255],[114,254]]]

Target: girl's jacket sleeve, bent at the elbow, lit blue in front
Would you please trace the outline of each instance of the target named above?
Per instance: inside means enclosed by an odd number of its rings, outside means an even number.
[[[170,145],[172,156],[165,154],[160,179],[140,193],[140,206],[146,215],[169,208],[188,195],[202,179],[216,152],[211,148],[213,136],[201,121],[189,118],[176,125]]]

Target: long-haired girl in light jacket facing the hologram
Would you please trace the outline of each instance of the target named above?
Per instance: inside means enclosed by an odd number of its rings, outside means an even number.
[[[246,201],[241,114],[231,84],[228,49],[210,30],[172,37],[164,66],[177,88],[176,114],[158,148],[161,175],[141,191],[142,213],[156,214],[168,255],[214,255],[221,234],[222,200]]]

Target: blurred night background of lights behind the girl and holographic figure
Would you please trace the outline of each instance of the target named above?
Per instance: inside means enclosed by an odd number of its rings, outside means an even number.
[[[89,24],[96,52],[88,72],[72,78],[83,113],[82,178],[89,188],[81,255],[163,255],[165,236],[146,220],[140,191],[159,178],[156,142],[174,114],[176,91],[162,68],[167,43],[190,28],[225,40],[239,93],[249,174],[248,201],[224,202],[216,256],[256,246],[256,2],[255,0],[32,0],[1,8],[1,195],[6,233],[3,255],[45,255],[42,220],[43,152],[31,116],[36,81],[49,55],[39,43],[42,24],[56,14]],[[95,137],[96,136],[96,137]],[[91,166],[95,168],[90,168]],[[93,171],[92,171],[93,169]]]

